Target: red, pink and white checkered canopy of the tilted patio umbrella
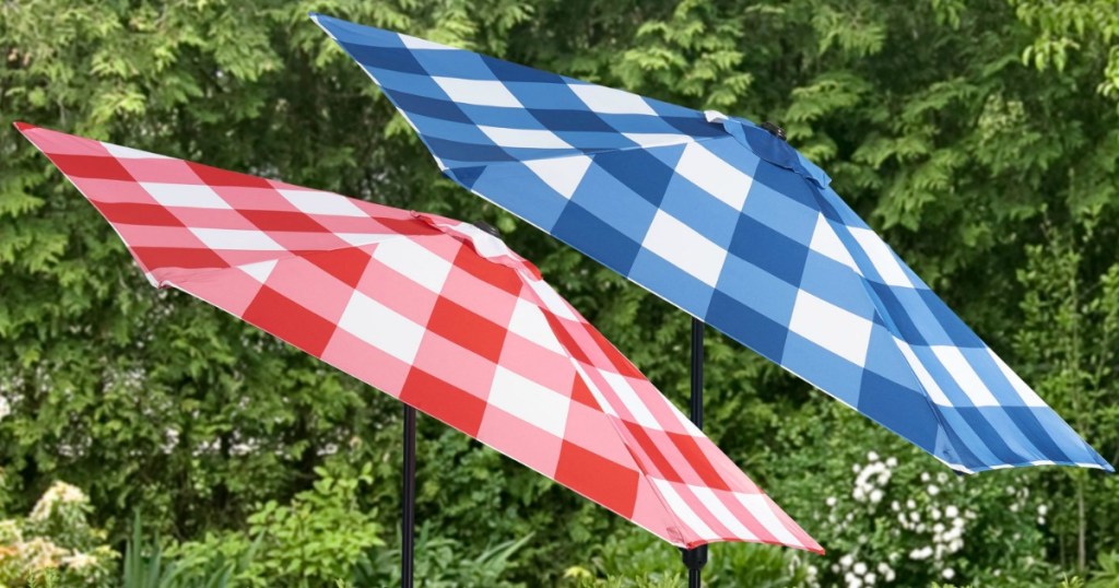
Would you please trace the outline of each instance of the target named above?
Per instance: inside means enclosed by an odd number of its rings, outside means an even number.
[[[17,127],[157,287],[241,317],[675,545],[822,551],[500,240]]]

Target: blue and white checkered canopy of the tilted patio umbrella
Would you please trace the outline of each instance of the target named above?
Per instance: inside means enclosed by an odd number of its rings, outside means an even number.
[[[953,469],[1112,469],[753,123],[312,18],[449,177]]]

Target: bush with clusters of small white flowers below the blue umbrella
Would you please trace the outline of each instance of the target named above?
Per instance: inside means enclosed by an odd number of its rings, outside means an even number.
[[[1014,585],[1045,577],[1047,505],[1032,500],[1021,474],[965,479],[900,466],[866,454],[854,464],[849,495],[825,498],[831,553],[827,581],[848,588],[931,582]],[[991,483],[990,480],[996,480]],[[977,541],[978,540],[978,541]],[[981,566],[993,545],[1014,567]]]

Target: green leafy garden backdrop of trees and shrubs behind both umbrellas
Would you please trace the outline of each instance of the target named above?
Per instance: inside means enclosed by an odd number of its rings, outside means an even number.
[[[152,290],[15,120],[488,221],[685,405],[688,318],[443,179],[310,10],[783,124],[1119,463],[1115,0],[7,0],[0,585],[121,585],[137,513],[176,586],[398,573],[401,405]],[[706,352],[711,437],[828,550],[716,544],[713,586],[1119,586],[1115,476],[958,478],[744,347]],[[423,417],[419,484],[423,586],[680,584],[670,545]]]

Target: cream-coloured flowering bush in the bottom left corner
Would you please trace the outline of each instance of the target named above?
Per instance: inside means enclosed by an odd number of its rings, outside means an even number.
[[[0,586],[19,588],[50,578],[50,586],[103,586],[115,571],[105,533],[90,526],[90,500],[56,482],[26,519],[0,521]]]

